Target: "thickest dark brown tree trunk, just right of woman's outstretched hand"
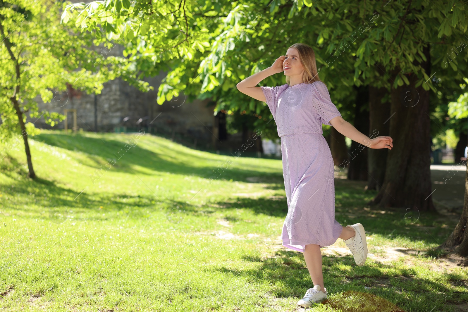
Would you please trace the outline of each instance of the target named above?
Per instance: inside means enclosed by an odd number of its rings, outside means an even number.
[[[429,47],[423,67],[430,72]],[[395,74],[392,74],[395,77]],[[407,75],[410,85],[391,90],[390,137],[385,179],[379,194],[370,202],[380,207],[435,210],[431,197],[429,92],[415,88],[416,74]]]

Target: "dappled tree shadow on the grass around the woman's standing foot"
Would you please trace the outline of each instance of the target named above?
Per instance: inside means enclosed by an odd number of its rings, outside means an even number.
[[[273,256],[267,258],[245,254],[241,259],[260,264],[255,268],[249,265],[247,269],[223,266],[207,270],[241,277],[250,283],[263,284],[265,281],[271,281],[270,283],[276,284],[275,281],[281,281],[279,283],[281,287],[272,288],[272,296],[275,298],[299,299],[308,288],[312,287],[308,270],[303,266],[303,255],[297,252],[279,249]],[[351,254],[323,256],[322,267],[325,286],[329,293],[328,299],[322,304],[336,311],[431,311],[446,304],[450,298],[447,294],[455,297],[462,295],[461,292],[457,295],[446,285],[424,277],[416,277],[418,274],[413,268],[395,268],[382,263],[357,267]],[[387,273],[389,269],[391,273]],[[455,281],[460,278],[460,275],[454,274],[450,280],[456,283]],[[408,300],[409,298],[414,300]],[[314,311],[313,307],[310,311]]]

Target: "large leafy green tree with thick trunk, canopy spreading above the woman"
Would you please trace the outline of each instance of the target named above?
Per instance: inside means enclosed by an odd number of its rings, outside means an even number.
[[[269,12],[259,12],[259,7]],[[381,128],[389,124],[389,133],[380,135],[394,138],[394,148],[387,152],[385,174],[378,180],[382,188],[373,203],[434,208],[428,178],[431,109],[442,101],[440,83],[459,83],[467,69],[466,53],[445,61],[446,53],[465,38],[468,16],[463,3],[106,0],[69,5],[62,17],[83,31],[99,35],[102,28],[109,36],[126,38],[125,53],[141,59],[146,72],[143,66],[140,69],[146,74],[168,66],[159,104],[183,90],[189,98],[212,98],[216,110],[262,116],[254,122],[259,129],[274,127],[268,123],[268,108],[240,95],[235,84],[270,66],[289,45],[311,45],[320,79],[344,116],[353,110],[354,86],[387,90],[390,119]],[[283,84],[283,79],[277,74],[262,84]],[[414,101],[420,97],[414,108],[410,107],[414,102],[405,102],[407,92]]]

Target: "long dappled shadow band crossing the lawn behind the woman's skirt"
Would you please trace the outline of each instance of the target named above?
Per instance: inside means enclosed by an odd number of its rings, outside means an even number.
[[[12,163],[12,166],[14,165],[15,163]],[[39,210],[47,210],[52,214],[55,212],[60,214],[62,210],[63,214],[65,214],[72,210],[74,213],[80,211],[84,215],[87,211],[98,211],[100,207],[103,207],[107,211],[124,211],[127,216],[132,215],[133,218],[146,218],[147,213],[145,211],[148,210],[152,213],[165,213],[173,207],[179,207],[186,214],[190,214],[193,217],[205,216],[206,213],[216,211],[228,212],[236,209],[247,209],[255,215],[285,218],[288,211],[285,197],[238,197],[222,202],[208,201],[204,207],[198,207],[176,198],[162,197],[160,199],[156,194],[130,196],[113,193],[80,193],[79,191],[59,186],[54,181],[43,179],[32,181],[27,177],[27,173],[22,168],[17,169],[16,174],[10,171],[7,171],[5,174],[14,178],[17,182],[13,185],[13,188],[10,185],[0,185],[2,193],[12,195],[8,196],[10,199],[4,203],[12,209],[29,213],[29,218],[41,217]],[[358,202],[358,200],[356,201]],[[212,203],[214,205],[211,205]],[[42,209],[37,209],[37,206]],[[357,216],[351,219],[351,222],[347,222],[350,220],[350,213]],[[88,216],[87,218],[93,219],[95,217]],[[229,221],[233,223],[240,222],[240,220],[232,216],[227,216],[227,218],[230,218]],[[386,213],[382,216],[381,214],[376,214],[374,210],[366,211],[347,206],[337,207],[335,218],[342,225],[361,223],[365,225],[366,232],[369,235],[380,234],[383,237],[390,237],[392,239],[404,237],[411,240],[422,240],[426,243],[437,242],[436,239],[443,241],[450,235],[452,230],[450,227],[442,228],[440,226],[421,228],[413,225],[409,227],[405,225],[404,218],[398,213]],[[434,218],[437,218],[437,215],[431,216],[428,214],[421,219],[425,220],[428,225],[431,225]],[[102,220],[102,218],[99,219]],[[60,220],[56,221],[60,222]]]

